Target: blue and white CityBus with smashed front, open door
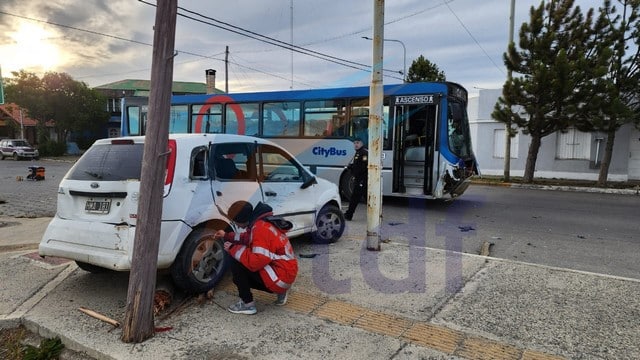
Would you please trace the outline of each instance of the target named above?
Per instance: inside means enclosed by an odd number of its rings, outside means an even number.
[[[122,101],[123,136],[144,135],[148,99]],[[478,173],[467,91],[451,82],[384,86],[384,196],[461,195]],[[153,121],[152,119],[149,121]],[[368,141],[369,87],[175,95],[170,133],[254,135],[280,144],[316,175],[351,195],[352,140]]]

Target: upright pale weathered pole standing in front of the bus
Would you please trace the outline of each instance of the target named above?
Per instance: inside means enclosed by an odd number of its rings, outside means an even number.
[[[382,61],[384,0],[373,0],[373,65],[369,90],[369,176],[367,182],[367,250],[380,251],[382,223]]]

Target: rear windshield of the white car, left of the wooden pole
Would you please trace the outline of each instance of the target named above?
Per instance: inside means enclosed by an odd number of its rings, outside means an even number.
[[[140,180],[144,144],[94,145],[67,175],[70,180]]]

